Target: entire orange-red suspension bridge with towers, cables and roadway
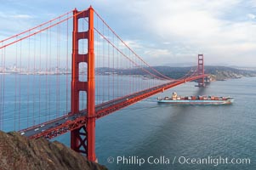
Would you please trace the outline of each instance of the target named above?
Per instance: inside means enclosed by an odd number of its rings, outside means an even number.
[[[95,161],[95,122],[185,82],[204,86],[203,55],[185,77],[139,57],[94,8],[74,9],[0,41],[0,129],[52,139]],[[8,66],[12,64],[12,66]]]

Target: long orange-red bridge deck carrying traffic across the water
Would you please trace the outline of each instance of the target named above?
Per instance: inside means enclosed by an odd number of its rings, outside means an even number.
[[[102,116],[109,115],[112,112],[118,111],[128,105],[133,105],[134,103],[142,99],[146,99],[154,94],[161,93],[168,88],[173,88],[175,86],[178,86],[179,84],[182,84],[185,82],[191,82],[193,80],[206,77],[206,76],[207,75],[200,75],[196,77],[188,77],[182,80],[167,82],[153,88],[147,88],[135,94],[129,94],[127,96],[113,99],[111,101],[105,102],[100,105],[96,105],[94,117],[96,119],[99,119]],[[87,119],[88,119],[88,116],[87,116],[86,110],[80,111],[77,114],[68,113],[67,115],[61,116],[52,121],[44,122],[37,126],[28,127],[26,129],[20,130],[19,133],[30,139],[37,139],[40,137],[44,137],[46,139],[52,139],[63,133],[67,133],[68,131],[71,131],[73,129],[86,125]]]

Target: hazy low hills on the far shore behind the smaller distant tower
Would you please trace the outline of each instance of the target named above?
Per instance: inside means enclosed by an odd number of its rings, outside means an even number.
[[[196,71],[196,67],[187,66],[187,67],[171,67],[171,66],[154,66],[153,69],[161,72],[163,75],[167,77],[172,77],[174,79],[178,79],[180,77],[184,77],[186,73],[189,71]],[[117,75],[141,75],[145,77],[150,77],[149,73],[146,71],[150,71],[156,76],[161,77],[156,72],[152,71],[150,68],[145,67],[144,71],[141,68],[133,68],[133,69],[113,69],[108,67],[96,68],[96,74],[100,75],[109,75],[109,74],[117,74]],[[212,75],[212,79],[214,80],[226,80],[230,78],[241,78],[241,77],[256,77],[256,71],[250,70],[241,70],[226,66],[205,66],[205,73]]]

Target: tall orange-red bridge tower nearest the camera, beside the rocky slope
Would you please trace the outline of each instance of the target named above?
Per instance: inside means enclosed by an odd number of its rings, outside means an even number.
[[[88,18],[88,31],[78,31],[78,20]],[[88,39],[88,54],[78,53],[78,41]],[[88,65],[87,82],[79,81],[79,63]],[[79,113],[79,93],[87,94],[88,119],[85,126],[71,131],[71,149],[96,161],[95,156],[95,80],[94,80],[94,9],[73,11],[72,72],[71,72],[71,114]]]

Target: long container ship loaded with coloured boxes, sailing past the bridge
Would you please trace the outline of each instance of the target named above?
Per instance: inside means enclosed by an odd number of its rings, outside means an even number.
[[[178,96],[173,93],[172,97],[157,98],[158,103],[168,103],[174,105],[230,105],[234,102],[230,97],[216,96]]]

